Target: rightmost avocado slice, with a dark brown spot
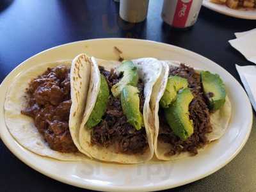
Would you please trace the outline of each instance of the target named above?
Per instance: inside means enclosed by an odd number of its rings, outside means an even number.
[[[200,72],[204,96],[211,111],[216,111],[225,104],[226,90],[223,81],[218,74],[209,71]]]

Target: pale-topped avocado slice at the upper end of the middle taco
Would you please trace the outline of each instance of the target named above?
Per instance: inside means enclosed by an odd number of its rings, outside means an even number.
[[[124,61],[120,67],[116,68],[116,72],[123,73],[123,77],[111,88],[111,92],[114,97],[118,97],[124,86],[127,84],[137,86],[139,75],[137,67],[132,63],[132,61]]]

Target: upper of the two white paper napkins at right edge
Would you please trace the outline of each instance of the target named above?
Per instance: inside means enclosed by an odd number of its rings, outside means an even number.
[[[235,35],[236,39],[228,41],[230,45],[241,52],[246,60],[256,64],[256,29],[235,33]]]

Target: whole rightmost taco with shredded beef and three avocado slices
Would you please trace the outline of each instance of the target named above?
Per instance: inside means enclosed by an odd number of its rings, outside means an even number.
[[[231,106],[218,74],[161,61],[164,72],[150,101],[154,151],[161,160],[194,156],[225,133]]]

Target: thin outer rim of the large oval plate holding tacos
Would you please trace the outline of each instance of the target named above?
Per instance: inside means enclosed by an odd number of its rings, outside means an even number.
[[[24,65],[24,63],[26,63],[29,60],[35,58],[39,54],[42,54],[42,53],[47,52],[47,51],[51,51],[52,49],[56,49],[58,47],[70,45],[70,44],[79,44],[79,43],[82,43],[82,42],[90,42],[90,41],[102,41],[102,40],[108,40],[108,39],[111,39],[111,40],[124,40],[124,41],[149,42],[151,44],[159,44],[159,45],[164,45],[164,46],[170,46],[173,49],[177,49],[179,51],[186,51],[189,54],[195,55],[197,58],[201,58],[201,59],[204,59],[205,61],[207,60],[207,61],[211,61],[212,63],[215,63],[214,61],[209,60],[205,56],[202,56],[202,55],[200,55],[200,54],[198,54],[196,52],[190,51],[188,49],[184,49],[182,47],[178,47],[178,46],[175,46],[175,45],[164,44],[162,42],[155,42],[155,41],[152,41],[152,40],[140,40],[140,39],[136,39],[136,38],[95,38],[95,39],[89,39],[89,40],[79,40],[79,41],[76,41],[76,42],[70,42],[70,43],[67,43],[67,44],[61,44],[61,45],[57,45],[55,47],[51,47],[49,49],[45,49],[44,51],[38,52],[37,54],[31,56],[30,58],[22,61],[22,63],[17,65],[17,67],[13,68],[13,70],[4,78],[4,80],[0,84],[0,90],[3,89],[3,84],[6,84],[6,81],[8,81],[8,77],[10,77],[11,74],[15,73],[15,71],[19,70],[19,68],[22,67],[22,65]],[[215,64],[218,65],[217,63],[215,63]],[[225,70],[225,68],[221,67],[220,65],[218,65],[218,67],[220,67],[222,70]],[[235,77],[233,77],[227,70],[225,70],[225,72],[228,73],[228,75],[232,78],[232,80],[236,81],[236,83],[238,83],[241,86],[241,84],[237,81],[237,79]],[[246,96],[246,102],[249,102],[249,104],[250,104],[250,101],[249,101],[248,96],[246,95],[246,92],[244,91],[244,89],[243,89],[243,93]],[[92,184],[92,183],[91,184],[88,184],[88,183],[81,184],[81,183],[78,183],[78,182],[76,182],[74,180],[69,180],[67,178],[56,177],[54,174],[48,173],[48,172],[44,171],[43,169],[41,169],[40,167],[36,167],[34,164],[31,164],[31,162],[29,162],[28,159],[26,159],[23,156],[21,156],[20,154],[18,154],[15,151],[15,148],[12,147],[11,144],[8,143],[7,140],[5,140],[5,138],[2,135],[3,133],[1,131],[1,129],[0,129],[0,138],[3,141],[4,145],[6,145],[6,147],[12,152],[12,154],[14,154],[18,159],[20,159],[20,161],[22,161],[23,163],[27,164],[29,167],[33,168],[37,172],[40,172],[40,173],[46,175],[47,177],[50,177],[51,179],[58,180],[58,181],[63,182],[65,184],[70,184],[72,186],[77,186],[79,188],[93,189],[95,191],[101,191],[101,190],[104,190],[104,191],[106,191],[106,190],[108,190],[108,191],[109,190],[111,190],[111,191],[124,191],[125,190],[126,191],[126,190],[129,190],[129,189],[131,189],[131,190],[135,189],[135,191],[148,191],[148,190],[156,191],[156,190],[160,190],[160,189],[170,189],[170,188],[175,188],[177,186],[182,186],[184,184],[189,184],[191,182],[194,182],[196,180],[199,180],[199,179],[202,179],[204,177],[207,177],[207,176],[211,175],[212,173],[214,173],[214,172],[220,170],[221,168],[223,168],[223,166],[225,166],[226,164],[230,163],[230,161],[232,161],[232,159],[234,159],[234,157],[236,157],[237,154],[244,147],[246,141],[248,141],[248,138],[250,136],[250,132],[252,131],[253,112],[252,112],[252,106],[251,105],[250,105],[250,110],[249,111],[250,111],[249,112],[250,113],[250,117],[249,117],[250,118],[250,124],[248,125],[248,131],[246,132],[246,135],[244,136],[243,142],[241,143],[241,145],[239,145],[239,147],[236,148],[236,152],[232,153],[232,155],[230,157],[228,157],[228,159],[226,159],[225,162],[223,162],[222,164],[219,164],[218,166],[215,166],[211,170],[211,172],[203,173],[201,175],[198,175],[197,177],[194,177],[193,179],[182,180],[182,181],[177,182],[176,184],[172,184],[172,185],[168,185],[168,183],[166,183],[166,181],[164,183],[155,184],[154,186],[140,186],[140,187],[136,186],[136,188],[132,188],[132,186],[130,186],[130,187],[123,187],[123,186],[111,186],[111,185],[97,185],[97,184]],[[7,127],[6,127],[6,129],[7,129]],[[8,129],[7,129],[7,131],[8,131]],[[9,132],[9,134],[10,134],[10,132]],[[13,138],[13,140],[14,140],[14,138]],[[15,142],[17,143],[17,141],[15,141]],[[17,143],[17,144],[19,145],[19,143]],[[24,147],[22,147],[22,148],[24,148]],[[26,148],[24,148],[24,149],[26,150]]]

